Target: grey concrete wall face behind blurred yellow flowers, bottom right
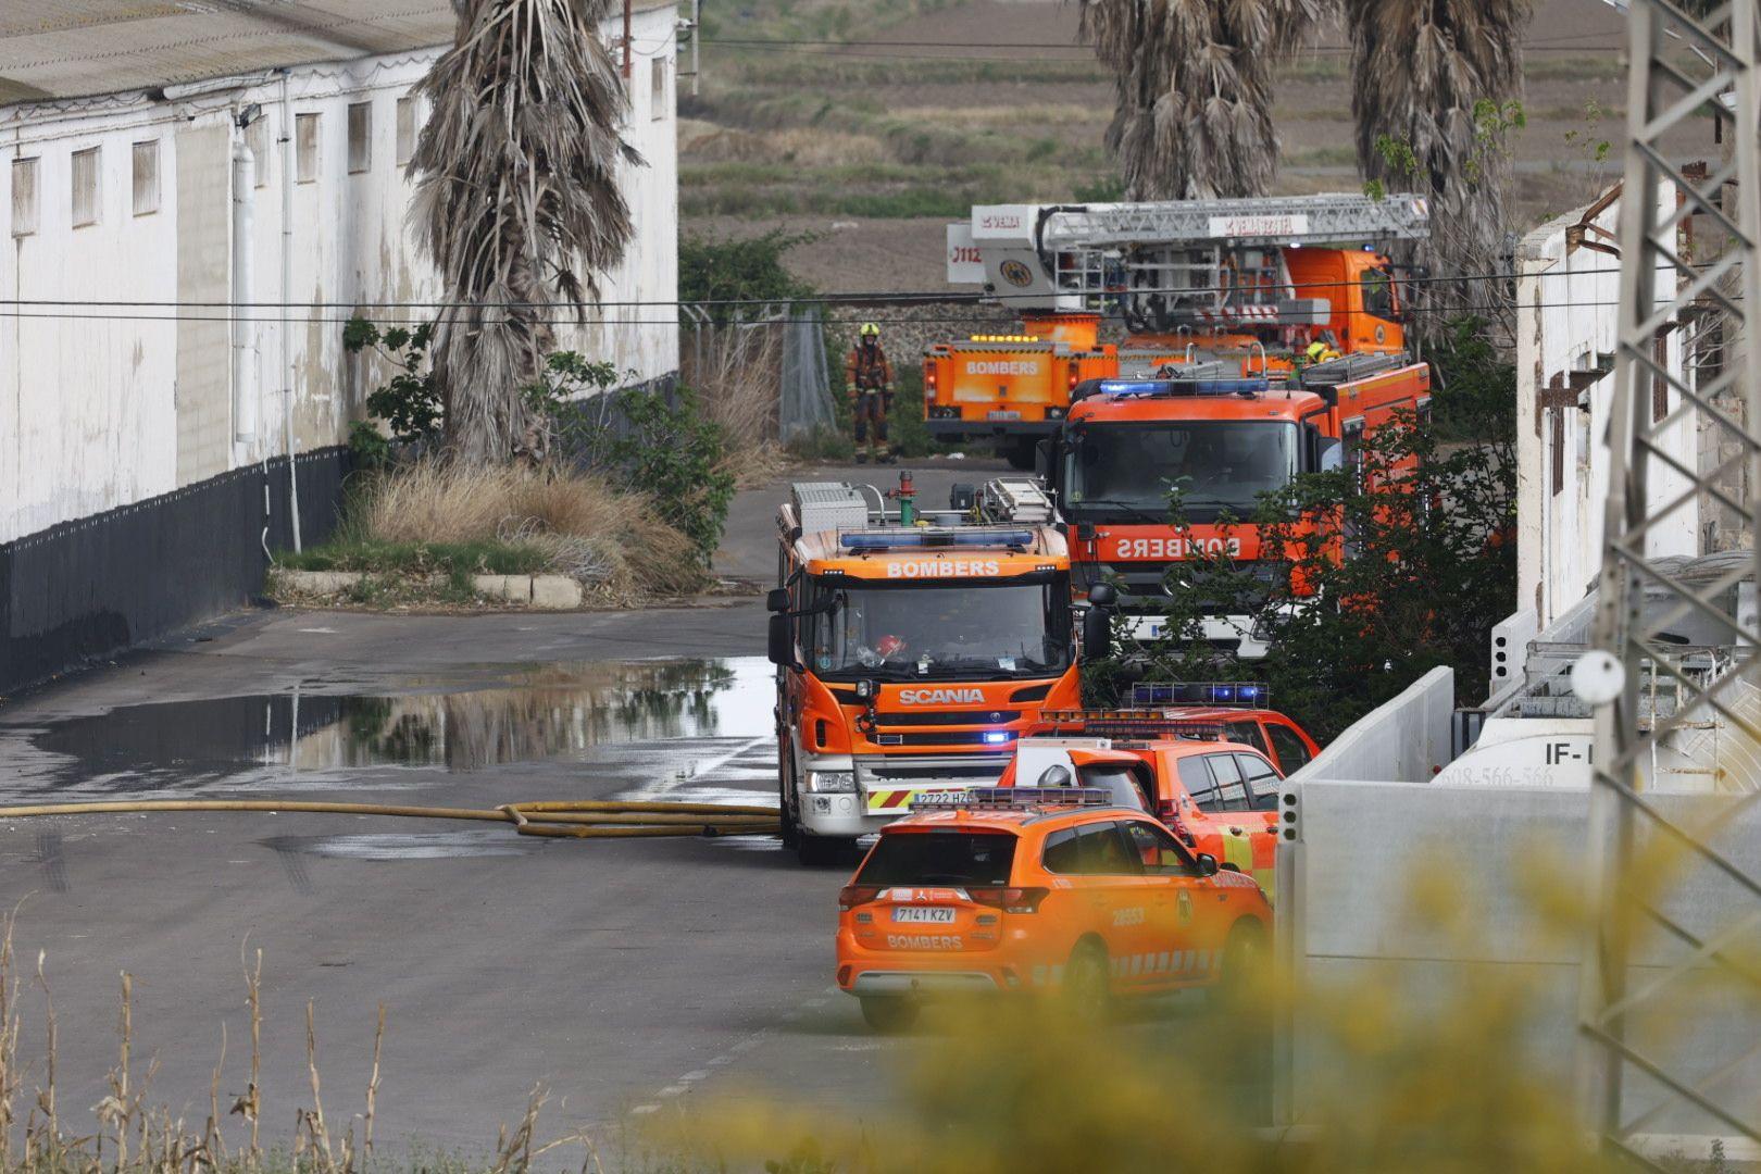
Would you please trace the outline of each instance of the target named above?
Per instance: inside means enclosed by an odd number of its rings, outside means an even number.
[[[1583,896],[1588,868],[1588,796],[1581,790],[1481,789],[1448,783],[1323,780],[1294,789],[1298,838],[1293,884],[1294,961],[1307,982],[1381,989],[1402,1019],[1462,1014],[1449,996],[1497,979],[1525,984],[1520,1054],[1530,1079],[1553,1082],[1571,1097],[1578,1058],[1578,980],[1583,928],[1560,908]],[[1715,827],[1713,847],[1745,869],[1761,869],[1761,806],[1735,796],[1650,797],[1671,820]],[[1652,840],[1643,829],[1638,852]],[[1444,873],[1446,889],[1469,912],[1465,929],[1446,929],[1416,915],[1416,882]],[[1566,892],[1551,889],[1564,887]],[[1564,901],[1560,901],[1564,898]],[[1713,864],[1687,857],[1661,894],[1661,906],[1701,940],[1729,929],[1752,901]],[[1546,906],[1551,905],[1551,910]],[[1761,949],[1761,928],[1749,924],[1729,940],[1731,958]],[[1689,958],[1692,947],[1662,931],[1634,943],[1629,989],[1645,987]],[[1713,1100],[1752,1105],[1761,1097],[1757,991],[1743,982],[1708,982],[1706,973],[1668,987],[1671,998],[1634,1010],[1627,1038],[1666,1070],[1705,1081]],[[1328,1024],[1294,1023],[1289,1053],[1289,1116],[1328,1093],[1338,1058]],[[1629,1068],[1627,1116],[1662,1100],[1661,1086]],[[1740,1114],[1742,1116],[1742,1114]],[[1685,1104],[1647,1121],[1652,1135],[1682,1139],[1689,1156],[1705,1158],[1713,1135],[1729,1134],[1712,1114]]]

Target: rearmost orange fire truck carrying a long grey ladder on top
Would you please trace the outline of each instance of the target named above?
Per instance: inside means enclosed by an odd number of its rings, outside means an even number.
[[[1146,204],[988,204],[949,225],[947,280],[1016,310],[1014,334],[925,352],[925,422],[997,437],[1016,468],[1090,378],[1171,363],[1293,371],[1305,349],[1405,347],[1393,268],[1372,245],[1428,234],[1416,195],[1294,195]],[[1116,319],[1125,341],[1101,341]]]

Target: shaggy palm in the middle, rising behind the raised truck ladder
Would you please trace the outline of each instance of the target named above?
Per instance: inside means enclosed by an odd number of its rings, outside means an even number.
[[[1081,0],[1115,77],[1108,150],[1127,199],[1263,195],[1278,162],[1271,74],[1321,0]]]

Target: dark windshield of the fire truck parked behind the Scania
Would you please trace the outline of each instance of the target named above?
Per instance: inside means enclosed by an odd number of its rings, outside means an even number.
[[[1090,424],[1064,459],[1064,510],[1072,521],[1168,521],[1180,491],[1189,521],[1222,510],[1245,519],[1261,493],[1296,475],[1296,424],[1182,421]]]

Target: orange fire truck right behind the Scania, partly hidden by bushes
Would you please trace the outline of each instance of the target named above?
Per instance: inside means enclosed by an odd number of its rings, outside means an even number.
[[[1293,477],[1356,468],[1367,438],[1407,412],[1430,410],[1430,368],[1404,356],[1345,357],[1300,378],[1219,375],[1215,364],[1164,368],[1157,378],[1108,378],[1076,389],[1048,445],[1048,491],[1071,544],[1078,590],[1113,584],[1141,614],[1139,639],[1164,635],[1153,604],[1196,553],[1224,554],[1271,586],[1250,519],[1263,493]],[[1185,526],[1169,521],[1180,491]],[[1234,519],[1224,525],[1224,517]],[[1345,551],[1338,551],[1344,556]],[[1205,614],[1199,639],[1259,658],[1252,614]]]

